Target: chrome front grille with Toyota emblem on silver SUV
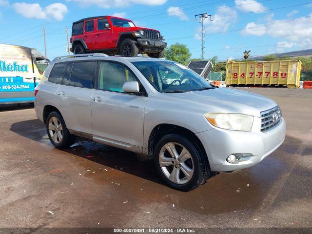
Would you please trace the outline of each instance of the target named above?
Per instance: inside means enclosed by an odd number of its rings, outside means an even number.
[[[263,111],[261,115],[261,132],[266,132],[280,123],[282,119],[282,112],[279,106],[273,109]]]

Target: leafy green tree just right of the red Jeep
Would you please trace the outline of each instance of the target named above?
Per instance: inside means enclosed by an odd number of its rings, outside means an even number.
[[[189,48],[180,43],[172,44],[169,48],[165,49],[165,59],[173,60],[184,65],[188,64],[189,59],[191,58],[191,53]]]

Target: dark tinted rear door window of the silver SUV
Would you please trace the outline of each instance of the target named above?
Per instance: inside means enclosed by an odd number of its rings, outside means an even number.
[[[69,85],[81,88],[93,88],[96,61],[74,62]]]

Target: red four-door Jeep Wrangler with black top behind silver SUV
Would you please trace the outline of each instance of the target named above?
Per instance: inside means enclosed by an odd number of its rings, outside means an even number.
[[[109,55],[137,56],[147,53],[162,58],[167,43],[159,31],[137,27],[131,20],[112,16],[91,17],[73,23],[71,52],[103,52]]]

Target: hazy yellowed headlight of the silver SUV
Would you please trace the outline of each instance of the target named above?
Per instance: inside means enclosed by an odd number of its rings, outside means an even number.
[[[253,116],[244,114],[207,113],[205,117],[215,127],[236,131],[250,131],[254,122]]]

